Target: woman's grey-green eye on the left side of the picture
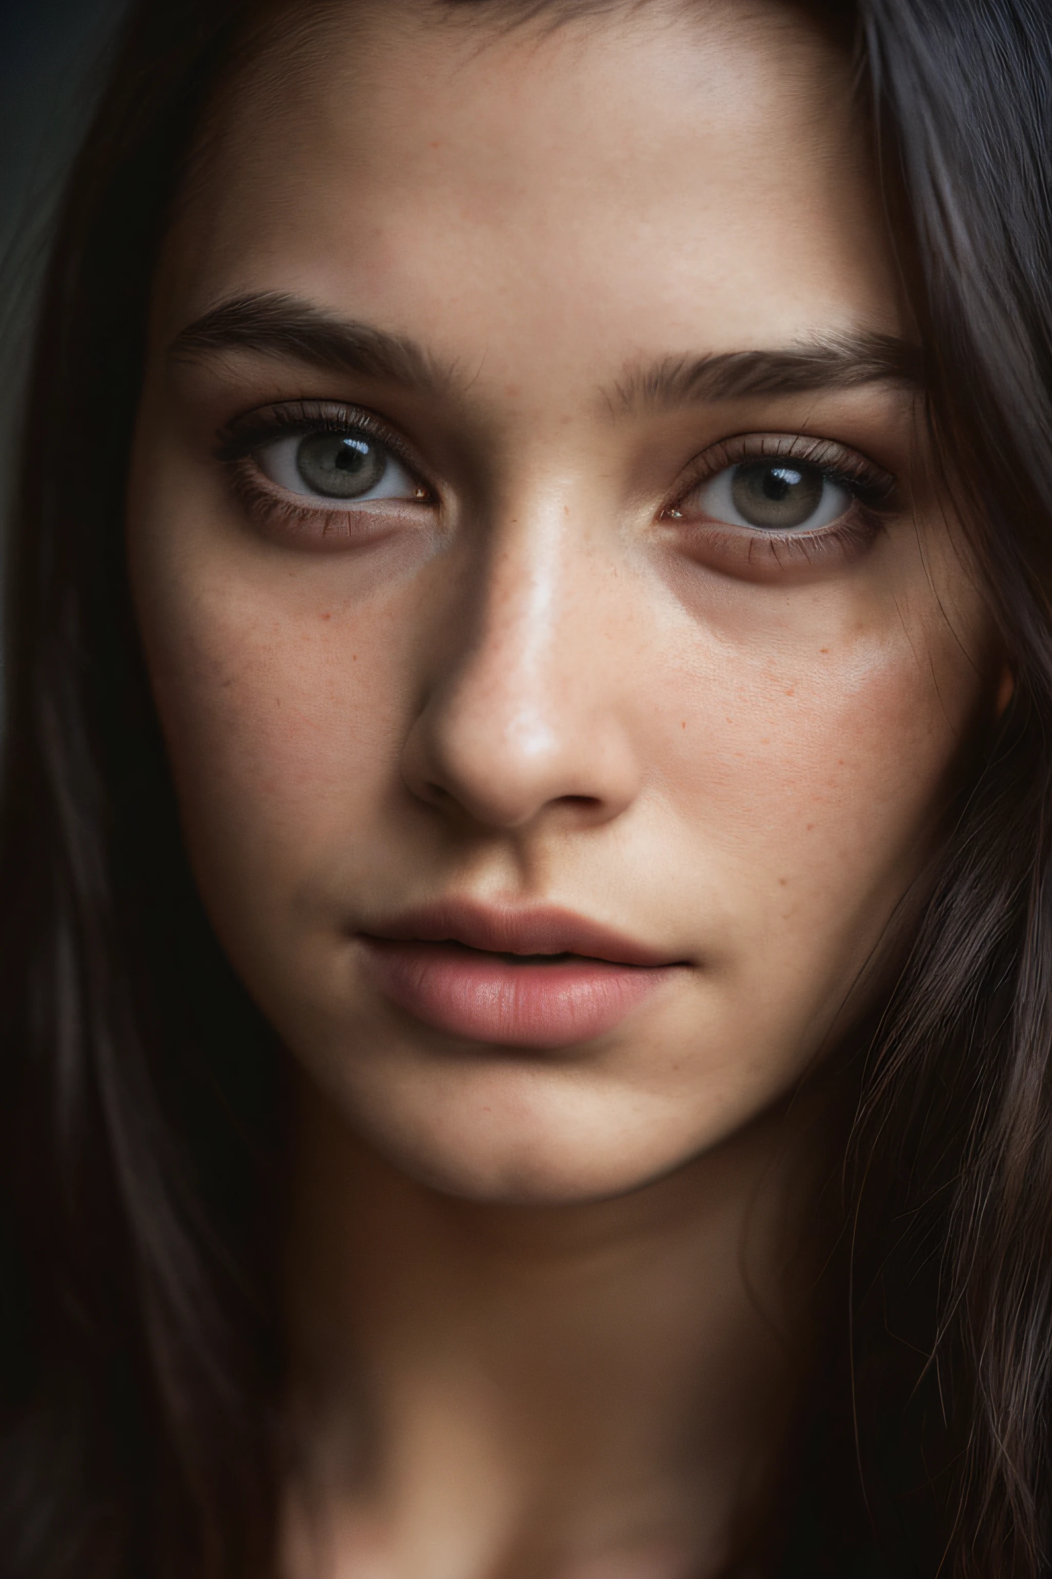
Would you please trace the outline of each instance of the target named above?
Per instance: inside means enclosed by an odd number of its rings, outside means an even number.
[[[369,499],[420,499],[416,478],[371,433],[358,429],[295,433],[256,448],[265,477],[289,493],[345,504]]]

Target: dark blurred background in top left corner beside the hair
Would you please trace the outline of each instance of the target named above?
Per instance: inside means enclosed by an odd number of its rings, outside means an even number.
[[[121,9],[123,0],[0,0],[0,510],[5,513],[49,224]]]

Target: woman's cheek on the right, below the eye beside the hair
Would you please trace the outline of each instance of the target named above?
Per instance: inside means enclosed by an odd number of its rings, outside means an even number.
[[[934,595],[910,619],[904,608],[757,622],[762,641],[757,625],[724,632],[703,666],[681,666],[662,709],[713,973],[749,979],[782,1015],[841,1000],[994,717],[978,611],[949,628]]]

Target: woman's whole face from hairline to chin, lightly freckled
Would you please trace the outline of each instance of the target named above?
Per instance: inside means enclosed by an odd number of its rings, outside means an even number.
[[[229,92],[166,245],[147,662],[330,1102],[445,1189],[598,1197],[847,1023],[1000,660],[830,43],[347,9]]]

